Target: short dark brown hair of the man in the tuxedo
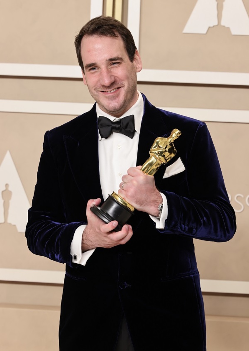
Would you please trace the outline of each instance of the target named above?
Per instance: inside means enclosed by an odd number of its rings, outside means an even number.
[[[133,62],[136,52],[136,45],[131,32],[120,21],[109,17],[99,16],[91,19],[85,24],[79,34],[75,37],[75,48],[79,66],[84,72],[84,65],[81,57],[81,41],[84,35],[99,35],[100,37],[120,37],[124,42],[125,50],[128,54],[129,60]]]

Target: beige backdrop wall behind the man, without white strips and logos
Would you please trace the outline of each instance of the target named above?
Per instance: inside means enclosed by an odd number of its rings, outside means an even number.
[[[243,3],[249,13],[249,0]],[[144,68],[249,73],[248,35],[232,35],[221,26],[209,28],[207,34],[182,33],[195,4],[196,0],[141,0],[139,51]],[[127,1],[124,7],[127,10]],[[0,9],[0,62],[77,65],[73,43],[90,19],[90,0],[0,0]],[[93,102],[80,79],[42,79],[39,74],[37,70],[37,77],[28,78],[3,73],[0,99]],[[156,106],[244,110],[249,117],[248,86],[249,82],[247,86],[138,84]],[[9,150],[30,204],[43,135],[72,118],[0,112],[0,165]],[[207,122],[237,211],[238,229],[228,243],[195,241],[202,279],[249,282],[248,122],[249,118],[247,123]],[[24,233],[9,223],[0,224],[0,268],[64,271],[64,265],[31,254]],[[60,284],[0,282],[0,349],[58,350],[61,293]],[[248,295],[203,296],[208,350],[247,350]]]

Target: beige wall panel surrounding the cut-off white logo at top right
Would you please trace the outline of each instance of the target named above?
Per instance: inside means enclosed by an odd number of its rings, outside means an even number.
[[[249,0],[243,0],[249,13]],[[144,68],[249,72],[249,36],[216,26],[207,34],[182,33],[196,0],[141,2],[140,54]]]

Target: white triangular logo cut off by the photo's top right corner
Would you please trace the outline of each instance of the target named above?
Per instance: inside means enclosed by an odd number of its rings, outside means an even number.
[[[249,35],[249,16],[243,0],[198,0],[182,33],[206,34],[214,26],[233,35]]]

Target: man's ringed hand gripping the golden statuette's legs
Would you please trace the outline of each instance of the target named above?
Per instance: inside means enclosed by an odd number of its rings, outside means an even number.
[[[118,194],[138,211],[157,217],[162,197],[155,186],[154,177],[140,171],[141,167],[129,168],[128,174],[122,177],[122,183],[119,184]]]

